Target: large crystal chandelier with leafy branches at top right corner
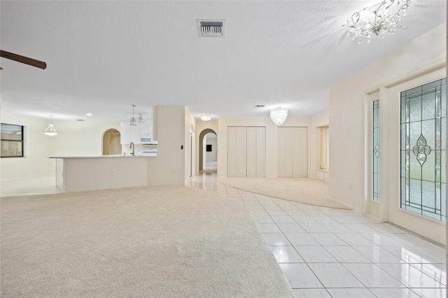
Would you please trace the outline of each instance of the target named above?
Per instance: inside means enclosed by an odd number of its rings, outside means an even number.
[[[392,35],[395,27],[406,27],[405,24],[399,23],[406,15],[410,3],[411,0],[384,0],[353,13],[346,20],[347,24],[343,24],[342,27],[347,27],[349,35],[353,34],[353,40],[360,38],[358,43],[361,43],[363,37],[367,38],[367,43],[375,37],[384,38],[386,35]]]

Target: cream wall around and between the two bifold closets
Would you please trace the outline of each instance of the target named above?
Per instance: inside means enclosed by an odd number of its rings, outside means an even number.
[[[284,127],[310,127],[311,118],[289,117]],[[278,150],[279,141],[277,127],[269,117],[220,117],[218,121],[218,176],[227,177],[227,131],[229,126],[262,126],[266,127],[266,178],[278,177]],[[316,150],[311,147],[311,132],[308,132],[308,151]],[[308,173],[311,173],[308,163]]]

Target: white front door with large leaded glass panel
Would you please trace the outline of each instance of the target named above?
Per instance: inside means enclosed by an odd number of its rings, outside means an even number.
[[[381,151],[388,157],[384,218],[440,243],[446,243],[445,85],[427,84],[445,76],[440,69],[388,88],[388,127],[381,127],[388,136],[387,151]]]

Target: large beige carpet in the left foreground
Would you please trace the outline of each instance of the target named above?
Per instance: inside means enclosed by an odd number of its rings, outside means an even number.
[[[294,297],[242,204],[189,187],[1,198],[1,297]]]

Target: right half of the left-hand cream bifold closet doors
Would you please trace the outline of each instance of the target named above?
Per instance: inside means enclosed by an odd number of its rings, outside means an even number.
[[[266,127],[247,127],[247,177],[266,175]]]

